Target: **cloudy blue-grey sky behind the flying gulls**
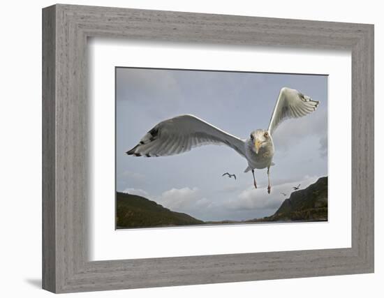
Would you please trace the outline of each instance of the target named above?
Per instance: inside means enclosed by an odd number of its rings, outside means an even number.
[[[246,159],[227,146],[207,145],[176,156],[125,154],[158,122],[193,114],[242,139],[267,129],[282,87],[297,89],[318,109],[288,119],[272,135],[270,169],[244,173]],[[237,180],[222,177],[236,174]],[[206,70],[116,68],[116,188],[142,195],[202,221],[242,221],[274,214],[292,187],[327,176],[327,76]]]

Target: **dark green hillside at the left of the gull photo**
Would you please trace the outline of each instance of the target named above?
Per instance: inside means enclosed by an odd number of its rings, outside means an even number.
[[[139,195],[116,193],[116,225],[118,229],[200,225],[204,223],[185,213],[170,211]]]

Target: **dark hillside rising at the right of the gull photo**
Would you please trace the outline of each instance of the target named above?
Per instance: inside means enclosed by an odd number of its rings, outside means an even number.
[[[307,188],[291,193],[272,216],[247,222],[327,220],[328,177],[321,177]]]

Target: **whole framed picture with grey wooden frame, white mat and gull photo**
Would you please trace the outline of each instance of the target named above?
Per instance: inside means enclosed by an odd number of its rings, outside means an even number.
[[[374,26],[43,9],[43,288],[374,272]]]

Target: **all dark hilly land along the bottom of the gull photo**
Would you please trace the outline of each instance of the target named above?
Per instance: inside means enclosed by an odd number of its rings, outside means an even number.
[[[170,211],[139,195],[117,193],[116,225],[118,229],[170,227],[175,225],[212,225],[230,223],[263,223],[271,221],[327,221],[328,177],[319,178],[305,189],[294,191],[279,209],[264,218],[248,221],[200,221],[185,213]]]

